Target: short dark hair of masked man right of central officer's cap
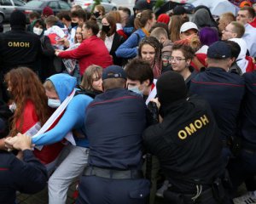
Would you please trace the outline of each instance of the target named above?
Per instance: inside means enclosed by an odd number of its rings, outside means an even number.
[[[127,78],[138,80],[140,83],[149,80],[149,85],[151,85],[154,80],[154,73],[149,63],[143,59],[131,59],[125,66],[125,73]]]

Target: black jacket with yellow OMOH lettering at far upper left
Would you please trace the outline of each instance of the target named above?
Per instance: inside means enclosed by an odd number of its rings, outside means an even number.
[[[18,66],[38,71],[40,53],[39,37],[32,32],[12,27],[12,31],[0,35],[0,71],[3,75]]]

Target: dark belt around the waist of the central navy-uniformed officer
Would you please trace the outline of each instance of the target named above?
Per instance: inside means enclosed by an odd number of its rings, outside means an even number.
[[[102,167],[86,167],[84,169],[84,176],[96,176],[102,178],[113,179],[137,179],[143,178],[143,172],[141,170],[116,170],[112,168]]]

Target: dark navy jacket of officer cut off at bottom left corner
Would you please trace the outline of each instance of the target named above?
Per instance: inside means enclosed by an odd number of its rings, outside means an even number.
[[[43,164],[35,158],[32,150],[23,151],[23,161],[12,153],[0,151],[0,203],[14,204],[16,190],[33,194],[43,190],[47,182],[47,172]]]

